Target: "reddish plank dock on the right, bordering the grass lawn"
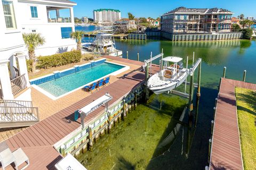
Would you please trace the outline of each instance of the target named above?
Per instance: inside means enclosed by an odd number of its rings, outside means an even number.
[[[214,118],[210,170],[243,169],[235,87],[256,90],[256,84],[221,79]]]

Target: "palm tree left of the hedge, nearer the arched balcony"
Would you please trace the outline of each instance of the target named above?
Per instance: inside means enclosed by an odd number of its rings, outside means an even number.
[[[32,60],[32,72],[36,70],[36,54],[35,48],[42,46],[45,43],[44,37],[41,33],[23,33],[22,34],[25,45],[28,48],[29,59]]]

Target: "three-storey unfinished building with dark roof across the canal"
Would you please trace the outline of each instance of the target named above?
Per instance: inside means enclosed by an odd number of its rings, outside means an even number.
[[[222,8],[178,7],[161,16],[161,30],[169,33],[230,32],[232,14]]]

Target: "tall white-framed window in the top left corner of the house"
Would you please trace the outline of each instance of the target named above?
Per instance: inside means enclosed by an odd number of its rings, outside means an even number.
[[[2,4],[3,4],[6,28],[16,29],[16,23],[14,18],[14,11],[13,11],[13,2],[2,0]]]

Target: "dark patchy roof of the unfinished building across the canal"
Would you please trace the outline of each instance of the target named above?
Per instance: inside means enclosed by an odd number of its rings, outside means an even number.
[[[165,14],[172,14],[172,13],[201,13],[201,14],[210,14],[210,13],[222,13],[222,12],[228,12],[228,13],[232,13],[229,10],[223,9],[223,8],[186,8],[186,7],[178,7],[175,8],[172,11],[169,11]],[[164,15],[165,15],[164,14]]]

